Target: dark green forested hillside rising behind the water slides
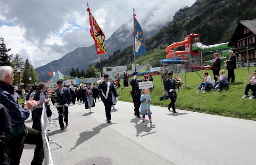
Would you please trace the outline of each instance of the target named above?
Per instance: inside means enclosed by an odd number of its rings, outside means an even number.
[[[149,61],[153,67],[158,66],[159,60],[165,58],[165,47],[182,41],[190,33],[200,34],[203,44],[228,42],[239,20],[256,19],[255,11],[256,0],[197,0],[191,7],[177,11],[172,22],[146,40],[146,55],[137,62],[143,65]],[[130,66],[133,61],[132,46],[129,46],[103,60],[102,66]]]

